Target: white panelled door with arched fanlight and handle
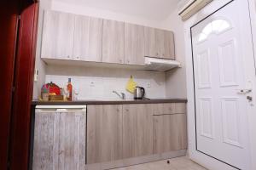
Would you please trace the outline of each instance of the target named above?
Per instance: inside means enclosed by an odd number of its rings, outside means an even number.
[[[251,169],[247,118],[255,78],[247,10],[234,1],[191,28],[196,148],[243,170]]]

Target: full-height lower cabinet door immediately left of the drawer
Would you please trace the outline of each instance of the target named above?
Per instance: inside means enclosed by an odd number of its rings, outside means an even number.
[[[151,105],[123,105],[123,157],[153,154]]]

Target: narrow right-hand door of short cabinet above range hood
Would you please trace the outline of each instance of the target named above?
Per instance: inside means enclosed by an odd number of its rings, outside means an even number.
[[[174,35],[172,31],[164,31],[164,52],[165,59],[175,59]]]

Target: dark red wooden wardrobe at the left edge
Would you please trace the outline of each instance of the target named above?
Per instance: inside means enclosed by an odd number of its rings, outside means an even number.
[[[0,3],[0,169],[28,168],[38,2]]]

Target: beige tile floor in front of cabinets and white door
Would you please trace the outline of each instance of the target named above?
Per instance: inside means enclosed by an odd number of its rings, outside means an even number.
[[[204,167],[196,164],[194,161],[190,161],[188,157],[177,157],[164,161],[154,161],[150,163],[140,164],[131,167],[121,167],[113,170],[207,170]]]

